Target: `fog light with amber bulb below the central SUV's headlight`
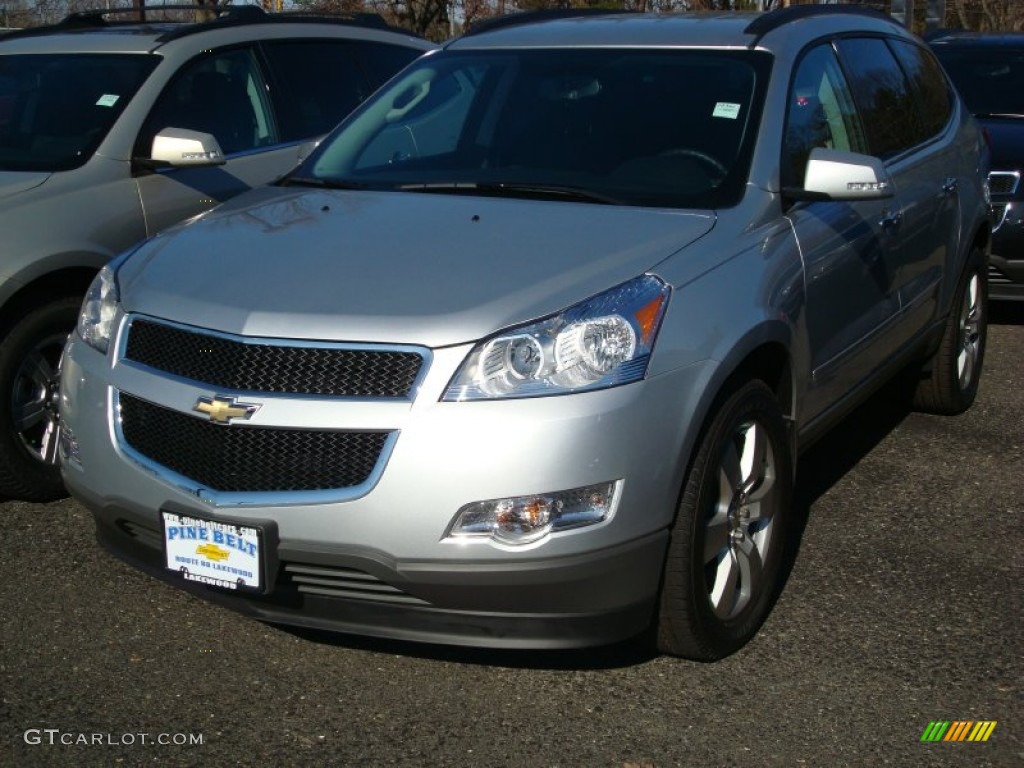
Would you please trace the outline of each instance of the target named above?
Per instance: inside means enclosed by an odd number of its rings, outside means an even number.
[[[452,521],[446,538],[489,537],[502,544],[529,544],[552,531],[607,520],[618,500],[622,480],[550,494],[490,499],[467,504]]]

